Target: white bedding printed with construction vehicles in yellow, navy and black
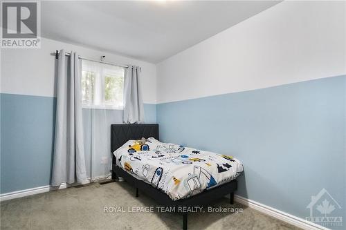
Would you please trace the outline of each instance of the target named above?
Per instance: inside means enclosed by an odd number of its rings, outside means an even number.
[[[243,171],[243,164],[228,155],[163,143],[153,137],[143,142],[129,140],[113,154],[118,166],[172,200],[230,182]]]

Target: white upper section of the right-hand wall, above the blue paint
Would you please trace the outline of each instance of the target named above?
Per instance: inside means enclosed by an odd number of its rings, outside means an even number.
[[[345,1],[284,1],[157,65],[158,103],[346,73]]]

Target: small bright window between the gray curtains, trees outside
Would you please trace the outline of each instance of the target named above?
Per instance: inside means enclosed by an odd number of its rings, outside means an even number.
[[[122,109],[124,75],[125,69],[122,67],[83,60],[83,107]]]

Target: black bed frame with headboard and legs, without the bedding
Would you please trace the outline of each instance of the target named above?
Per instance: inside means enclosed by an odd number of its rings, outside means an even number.
[[[156,200],[159,205],[163,207],[174,207],[175,210],[187,210],[186,208],[188,207],[203,207],[228,194],[230,194],[230,204],[233,204],[234,191],[237,190],[237,180],[203,191],[190,198],[174,201],[163,191],[154,188],[151,184],[134,178],[117,166],[116,157],[113,155],[113,152],[128,140],[139,140],[142,137],[154,137],[158,140],[158,124],[111,124],[111,177],[113,180],[117,181],[120,176],[129,184],[132,184],[136,188],[136,197],[138,197],[138,191],[141,191],[150,198]],[[179,207],[181,208],[179,209]],[[188,212],[181,213],[183,214],[183,229],[186,230],[188,229]]]

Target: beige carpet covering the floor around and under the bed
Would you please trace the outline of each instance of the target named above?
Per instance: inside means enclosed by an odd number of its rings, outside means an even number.
[[[126,182],[91,184],[1,202],[1,229],[182,229],[182,216],[174,213],[134,213],[133,207],[156,203]],[[219,200],[213,207],[243,208],[242,213],[189,213],[188,229],[297,229],[241,204]],[[106,213],[104,207],[125,212]],[[109,208],[109,211],[112,211]]]

